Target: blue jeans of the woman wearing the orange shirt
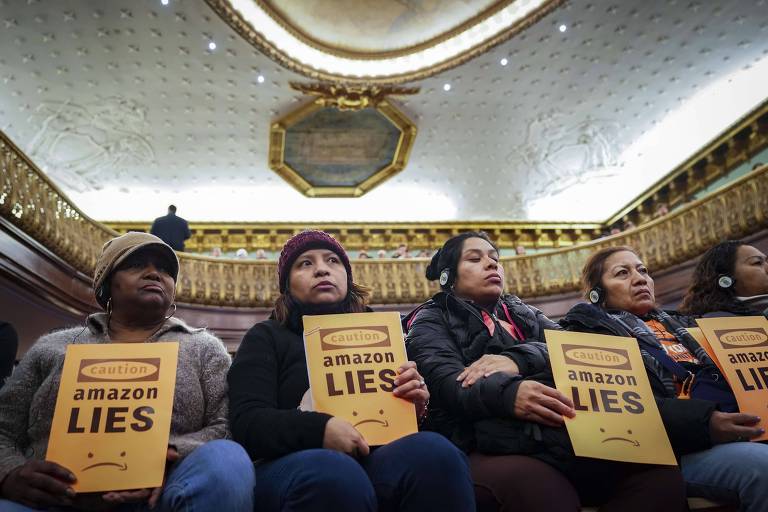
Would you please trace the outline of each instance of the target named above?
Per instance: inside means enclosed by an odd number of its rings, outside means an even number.
[[[768,445],[718,444],[709,450],[684,455],[680,470],[688,496],[739,503],[743,511],[768,507]]]

